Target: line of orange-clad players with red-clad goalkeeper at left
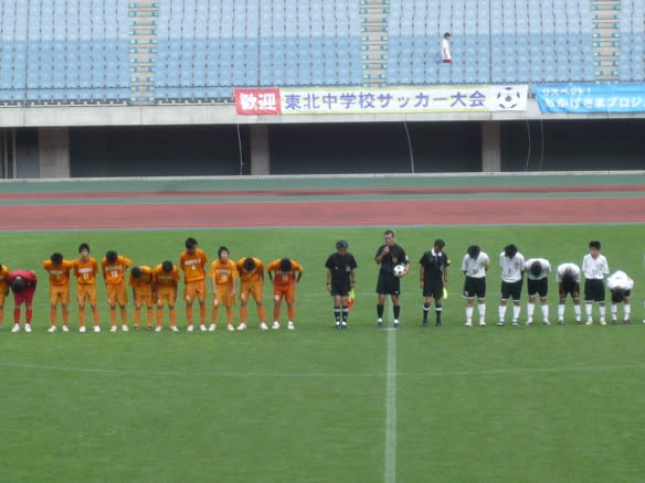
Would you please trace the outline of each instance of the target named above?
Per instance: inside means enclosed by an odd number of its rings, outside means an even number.
[[[134,328],[139,329],[141,323],[141,309],[147,309],[146,324],[148,330],[157,332],[162,330],[163,308],[168,307],[170,330],[178,331],[176,300],[180,281],[179,270],[183,271],[186,316],[188,331],[193,331],[194,316],[192,304],[197,300],[199,304],[199,323],[202,331],[214,331],[216,328],[220,307],[226,310],[226,326],[230,331],[233,326],[233,307],[235,297],[240,294],[240,324],[237,330],[246,329],[247,302],[254,299],[257,314],[261,321],[260,328],[268,329],[265,321],[265,308],[262,292],[264,273],[268,273],[273,282],[274,323],[272,329],[279,329],[281,305],[283,300],[287,305],[287,329],[295,329],[295,290],[296,283],[303,276],[303,267],[294,259],[281,258],[271,262],[266,268],[255,257],[246,257],[236,262],[229,259],[229,249],[220,247],[218,258],[210,265],[207,273],[208,258],[204,251],[198,247],[194,238],[186,240],[186,250],[180,254],[179,268],[170,260],[159,264],[155,268],[148,266],[133,266],[133,260],[118,255],[114,250],[106,253],[101,264],[101,272],[95,258],[89,256],[89,246],[81,244],[80,257],[76,260],[66,260],[62,254],[53,254],[49,260],[43,261],[43,268],[50,278],[50,332],[57,330],[57,307],[62,310],[62,325],[64,332],[70,330],[70,279],[73,272],[76,279],[76,300],[78,302],[78,330],[86,331],[85,304],[88,303],[93,316],[94,332],[101,332],[101,320],[96,304],[96,281],[99,273],[103,276],[106,287],[106,298],[109,307],[110,331],[118,330],[117,308],[120,311],[120,328],[128,331],[127,310],[128,296],[126,289],[126,270],[130,269],[129,287],[133,289],[135,303]],[[212,280],[213,304],[211,309],[211,323],[207,326],[207,276]],[[9,289],[13,292],[13,328],[12,332],[20,332],[20,307],[25,305],[24,330],[31,332],[32,326],[32,300],[38,280],[32,270],[13,270],[0,266],[0,324],[3,319],[4,299]],[[155,313],[156,312],[156,313]],[[155,316],[156,315],[156,316]],[[156,321],[155,321],[156,319]],[[155,324],[156,322],[156,324]]]

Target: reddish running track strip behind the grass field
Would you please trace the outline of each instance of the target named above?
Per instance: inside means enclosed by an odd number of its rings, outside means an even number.
[[[626,192],[644,193],[645,186],[611,186],[615,196],[590,197],[599,191],[610,191],[599,187],[592,191],[575,186],[573,191],[580,193],[577,197],[558,193],[570,193],[567,187],[524,187],[521,192],[505,191],[511,197],[501,200],[486,197],[486,193],[499,193],[497,189],[468,190],[468,194],[480,197],[467,200],[388,200],[388,194],[410,193],[382,189],[351,193],[373,195],[373,200],[367,201],[338,190],[272,192],[285,201],[269,202],[253,200],[266,196],[266,191],[182,192],[172,196],[159,192],[13,194],[3,198],[42,203],[3,206],[0,230],[645,223],[645,196],[621,197]],[[459,193],[464,194],[464,190],[459,189]],[[544,192],[556,197],[531,197]],[[294,200],[296,194],[298,200]],[[444,194],[455,194],[455,190]],[[328,200],[306,200],[307,195],[327,195]],[[222,196],[239,196],[240,202],[218,201]],[[151,202],[151,197],[163,202]],[[186,201],[191,197],[212,200]],[[88,198],[93,202],[88,203]],[[72,200],[72,204],[57,204],[57,200]]]

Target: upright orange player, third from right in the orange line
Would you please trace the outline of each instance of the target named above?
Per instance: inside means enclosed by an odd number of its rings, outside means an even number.
[[[209,275],[213,281],[213,309],[209,331],[215,330],[220,305],[226,308],[226,328],[230,331],[234,331],[233,305],[235,304],[237,268],[235,267],[235,262],[229,258],[229,248],[220,247],[218,250],[218,259],[211,264]]]

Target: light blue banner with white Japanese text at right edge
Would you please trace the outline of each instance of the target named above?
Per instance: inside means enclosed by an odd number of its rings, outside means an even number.
[[[549,84],[535,93],[542,112],[645,112],[645,84]]]

